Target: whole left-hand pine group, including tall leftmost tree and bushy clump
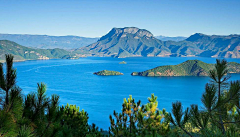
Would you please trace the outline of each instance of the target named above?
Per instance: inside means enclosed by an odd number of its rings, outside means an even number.
[[[0,107],[0,136],[58,137],[101,136],[95,125],[88,125],[88,114],[76,105],[59,106],[59,96],[47,97],[46,85],[37,84],[37,91],[25,99],[16,86],[13,56],[6,55],[6,74],[0,67],[2,90]]]

